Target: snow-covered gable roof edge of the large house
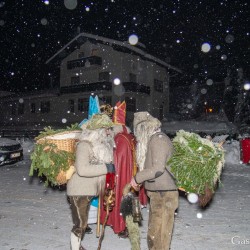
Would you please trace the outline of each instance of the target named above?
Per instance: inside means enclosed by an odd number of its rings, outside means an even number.
[[[130,45],[126,41],[121,42],[121,41],[113,40],[113,39],[110,39],[110,38],[105,38],[105,37],[98,36],[98,35],[92,35],[92,34],[85,33],[85,32],[78,34],[74,39],[72,39],[70,42],[68,42],[57,53],[55,53],[52,57],[50,57],[46,61],[46,64],[51,62],[57,55],[59,55],[62,51],[64,51],[67,47],[69,47],[74,41],[77,41],[77,39],[79,39],[80,37],[85,37],[85,38],[88,38],[90,40],[99,41],[99,42],[106,43],[106,44],[109,44],[109,45],[118,45],[118,46],[124,47],[124,48],[130,50],[131,52],[137,53],[137,54],[143,56],[144,58],[146,58],[148,60],[154,61],[155,63],[158,63],[158,64],[162,65],[163,67],[175,70],[175,71],[177,71],[179,73],[182,73],[182,71],[180,69],[178,69],[178,68],[176,68],[174,66],[171,66],[170,64],[162,61],[161,59],[159,59],[159,58],[157,58],[157,57],[155,57],[153,55],[150,55],[150,54],[146,53],[145,51],[143,51],[142,49],[137,48],[136,46]]]

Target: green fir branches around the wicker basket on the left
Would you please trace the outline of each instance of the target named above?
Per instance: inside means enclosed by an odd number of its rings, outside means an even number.
[[[62,134],[72,131],[81,131],[78,124],[73,124],[71,127],[66,127],[66,129],[52,129],[51,127],[46,127],[44,131],[40,133],[38,137],[35,138],[37,143],[34,146],[34,150],[31,153],[31,167],[29,176],[33,176],[34,172],[37,172],[39,177],[43,177],[45,180],[45,185],[58,186],[61,185],[58,176],[61,172],[66,172],[70,165],[75,161],[75,152],[68,152],[65,150],[60,150],[53,140],[46,140],[47,137],[56,136],[57,134]],[[39,140],[44,139],[42,143],[38,143]]]

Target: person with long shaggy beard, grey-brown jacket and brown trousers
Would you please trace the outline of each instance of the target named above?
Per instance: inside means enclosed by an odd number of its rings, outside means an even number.
[[[144,184],[149,197],[147,243],[150,250],[170,248],[174,214],[178,207],[178,190],[167,161],[173,152],[169,137],[161,132],[161,122],[148,112],[134,114],[136,156],[140,171],[131,186]]]

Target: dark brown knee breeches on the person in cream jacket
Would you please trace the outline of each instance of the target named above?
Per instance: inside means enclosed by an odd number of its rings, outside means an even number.
[[[83,238],[87,224],[90,201],[93,196],[69,196],[73,228],[71,230],[78,238]]]

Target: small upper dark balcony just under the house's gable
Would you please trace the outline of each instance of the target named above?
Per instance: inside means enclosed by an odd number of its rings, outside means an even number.
[[[76,60],[67,62],[67,69],[75,69],[75,68],[89,68],[92,66],[101,66],[102,58],[99,56],[89,56],[83,57]]]

